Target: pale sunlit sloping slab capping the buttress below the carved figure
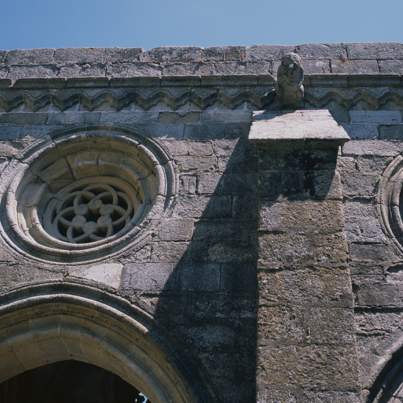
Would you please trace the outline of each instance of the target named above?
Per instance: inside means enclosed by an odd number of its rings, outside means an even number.
[[[262,145],[272,142],[320,141],[342,146],[350,140],[327,109],[254,111],[249,141]]]

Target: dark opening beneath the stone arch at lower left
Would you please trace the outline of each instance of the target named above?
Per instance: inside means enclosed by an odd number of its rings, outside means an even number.
[[[43,365],[0,383],[0,403],[151,403],[114,373],[81,361]]]

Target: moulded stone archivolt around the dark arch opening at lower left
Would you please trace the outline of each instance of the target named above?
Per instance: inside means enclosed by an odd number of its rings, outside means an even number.
[[[87,287],[68,287],[47,284],[30,287],[29,297],[26,289],[7,296],[0,307],[0,382],[74,359],[115,373],[153,403],[215,401],[144,312]]]

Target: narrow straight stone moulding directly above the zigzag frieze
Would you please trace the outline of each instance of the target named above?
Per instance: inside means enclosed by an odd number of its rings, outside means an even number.
[[[305,74],[304,87],[403,87],[398,74]],[[0,90],[7,89],[69,89],[69,88],[169,88],[169,87],[276,87],[270,75],[215,76],[140,76],[127,78],[21,78],[0,79]]]

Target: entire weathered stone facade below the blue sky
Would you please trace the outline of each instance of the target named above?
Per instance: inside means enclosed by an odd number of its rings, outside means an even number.
[[[0,51],[0,402],[403,401],[403,44]]]

